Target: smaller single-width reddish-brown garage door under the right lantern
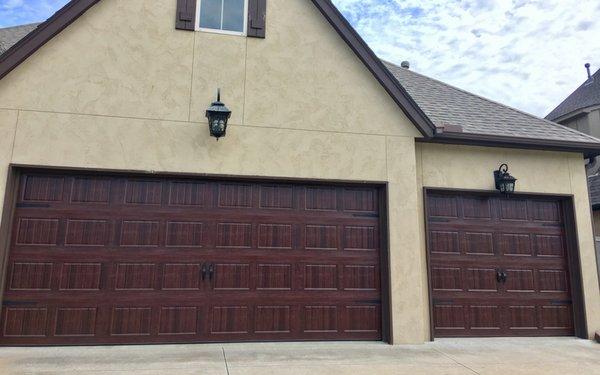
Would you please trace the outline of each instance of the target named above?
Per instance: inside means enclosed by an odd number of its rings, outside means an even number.
[[[436,337],[574,334],[562,205],[428,194]]]

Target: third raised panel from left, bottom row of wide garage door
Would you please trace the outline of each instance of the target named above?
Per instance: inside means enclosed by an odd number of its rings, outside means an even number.
[[[116,307],[112,311],[112,336],[148,336],[152,323],[150,307]]]

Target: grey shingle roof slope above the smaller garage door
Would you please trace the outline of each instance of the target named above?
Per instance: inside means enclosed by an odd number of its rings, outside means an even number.
[[[454,125],[463,133],[600,143],[600,140],[551,121],[450,86],[384,61],[388,70],[438,127]]]

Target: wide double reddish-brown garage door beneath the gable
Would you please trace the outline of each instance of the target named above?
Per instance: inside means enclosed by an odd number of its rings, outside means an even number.
[[[379,195],[25,173],[0,344],[380,340]]]

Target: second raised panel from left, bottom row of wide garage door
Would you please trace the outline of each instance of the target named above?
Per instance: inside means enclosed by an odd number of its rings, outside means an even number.
[[[59,308],[56,311],[56,336],[94,336],[96,334],[97,309]]]

